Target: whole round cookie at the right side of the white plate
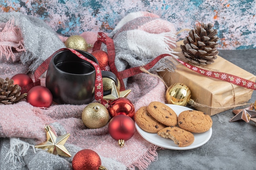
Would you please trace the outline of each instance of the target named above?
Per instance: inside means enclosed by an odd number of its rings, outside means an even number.
[[[178,116],[178,125],[189,132],[202,133],[211,128],[212,119],[201,111],[185,110]]]

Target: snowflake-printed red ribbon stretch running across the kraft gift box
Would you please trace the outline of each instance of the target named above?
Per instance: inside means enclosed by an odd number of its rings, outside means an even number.
[[[226,81],[226,82],[238,85],[238,86],[242,86],[242,87],[245,87],[245,88],[250,88],[250,89],[256,90],[256,83],[252,82],[250,80],[238,77],[236,75],[231,75],[231,74],[228,74],[228,73],[205,70],[205,69],[193,66],[191,64],[188,64],[186,62],[183,62],[179,59],[177,59],[177,60],[182,65],[186,66],[187,68],[189,68],[189,69],[191,69],[191,70],[193,70],[193,71],[195,71],[195,72],[197,72],[201,75],[204,75],[204,76],[207,76],[207,77],[212,77],[212,78],[215,78],[215,79],[220,79],[220,80],[223,80],[223,81]]]

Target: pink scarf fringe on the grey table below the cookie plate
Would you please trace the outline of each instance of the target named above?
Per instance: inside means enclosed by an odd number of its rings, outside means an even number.
[[[160,147],[153,145],[151,148],[148,148],[148,151],[143,157],[139,157],[132,165],[128,166],[129,170],[135,170],[135,167],[139,170],[146,170],[151,162],[157,159],[157,151]]]

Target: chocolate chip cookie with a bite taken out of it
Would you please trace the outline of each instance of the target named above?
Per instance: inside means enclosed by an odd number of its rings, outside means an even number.
[[[173,140],[179,147],[189,146],[195,140],[194,135],[191,132],[177,126],[163,128],[157,132],[157,135]]]

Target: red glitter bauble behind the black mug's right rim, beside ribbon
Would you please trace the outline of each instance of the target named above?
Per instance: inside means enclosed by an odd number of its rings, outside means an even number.
[[[96,50],[91,53],[99,62],[99,67],[103,71],[110,71],[108,65],[108,54],[102,50]]]

